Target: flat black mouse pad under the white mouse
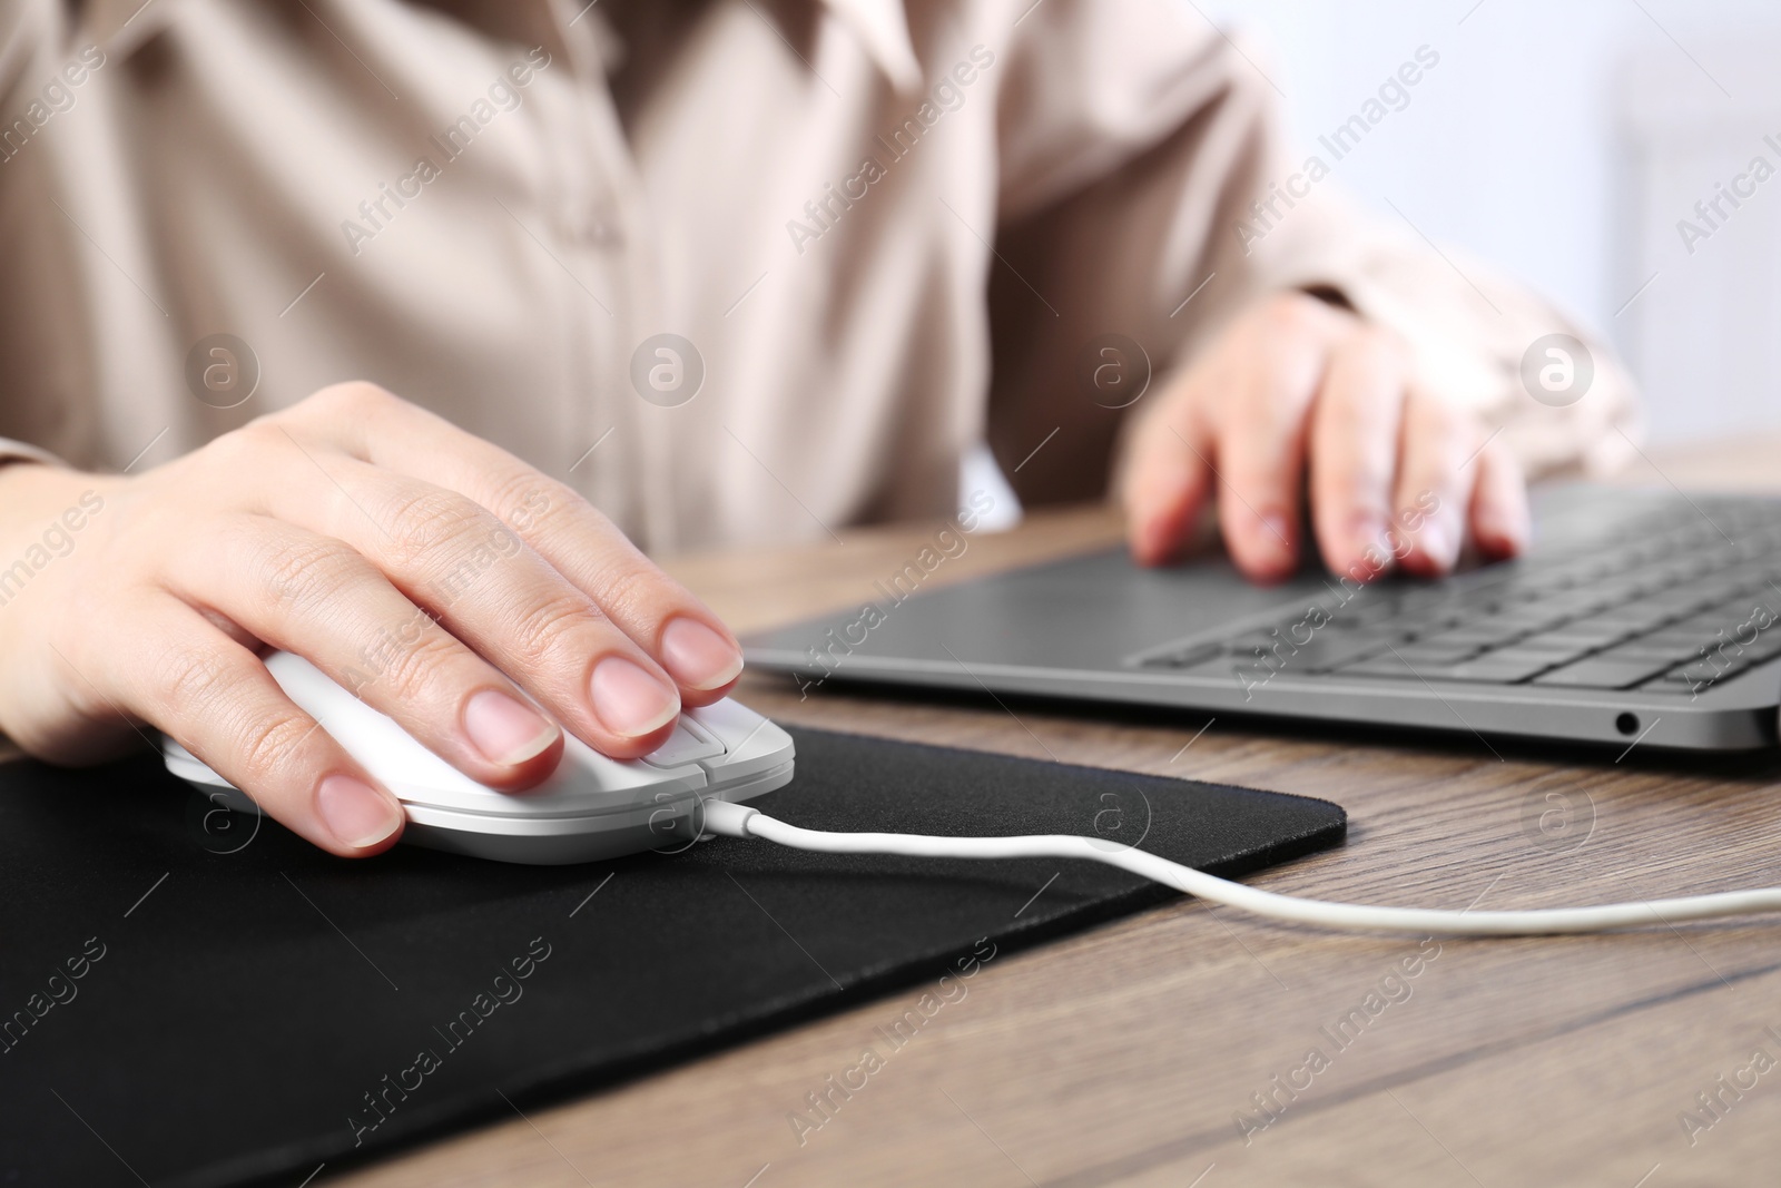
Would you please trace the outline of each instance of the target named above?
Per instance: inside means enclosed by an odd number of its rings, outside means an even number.
[[[793,736],[796,780],[753,803],[810,828],[1086,834],[1227,875],[1346,828],[1300,796]],[[159,757],[7,764],[0,1184],[296,1184],[1172,894],[1086,862],[741,839],[351,862],[216,810]]]

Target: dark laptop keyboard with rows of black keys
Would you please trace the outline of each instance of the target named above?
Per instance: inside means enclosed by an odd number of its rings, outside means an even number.
[[[1697,695],[1781,655],[1781,508],[1665,500],[1585,547],[1329,593],[1143,668]]]

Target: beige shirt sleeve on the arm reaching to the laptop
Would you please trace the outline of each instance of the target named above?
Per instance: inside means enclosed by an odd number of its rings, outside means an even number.
[[[1606,472],[1633,452],[1637,403],[1614,353],[1484,264],[1362,210],[1327,150],[1289,155],[1257,46],[1165,0],[1047,0],[1012,34],[990,443],[1004,472],[1019,465],[1022,500],[1104,493],[1124,410],[1088,378],[1110,335],[1138,344],[1154,394],[1286,289],[1336,290],[1402,337],[1418,383],[1501,429],[1530,476]],[[1553,333],[1580,340],[1594,372],[1565,406],[1521,379]]]

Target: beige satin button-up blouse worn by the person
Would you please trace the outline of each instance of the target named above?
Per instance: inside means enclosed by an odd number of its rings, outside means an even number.
[[[356,378],[652,550],[814,540],[981,440],[1095,495],[1104,335],[1154,390],[1330,285],[1532,467],[1614,463],[1606,353],[1530,399],[1582,331],[1295,182],[1252,59],[1177,0],[11,0],[0,451],[144,468]]]

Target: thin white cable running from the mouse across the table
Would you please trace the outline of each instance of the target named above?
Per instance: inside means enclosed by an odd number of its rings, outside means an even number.
[[[1532,908],[1521,912],[1450,912],[1439,908],[1391,908],[1362,903],[1300,899],[1234,883],[1191,866],[1142,850],[1115,848],[1090,837],[1051,834],[1038,837],[924,837],[919,834],[826,834],[798,828],[759,809],[725,800],[707,800],[705,830],[723,837],[759,837],[791,850],[817,853],[899,853],[915,858],[1086,858],[1117,866],[1190,896],[1224,903],[1268,919],[1320,924],[1350,932],[1405,932],[1450,937],[1532,937],[1551,933],[1605,932],[1639,924],[1676,924],[1722,915],[1781,912],[1781,887],[1722,891],[1678,899],[1605,903],[1587,908]]]

